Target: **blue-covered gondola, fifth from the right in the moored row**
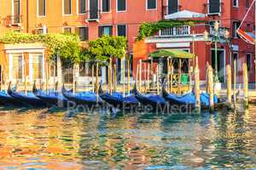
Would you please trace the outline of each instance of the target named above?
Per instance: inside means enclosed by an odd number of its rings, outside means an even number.
[[[43,90],[36,87],[36,83],[33,85],[32,92],[36,97],[38,97],[38,99],[41,99],[44,103],[47,103],[47,105],[67,107],[68,100],[59,92],[49,92],[49,94],[46,94]]]

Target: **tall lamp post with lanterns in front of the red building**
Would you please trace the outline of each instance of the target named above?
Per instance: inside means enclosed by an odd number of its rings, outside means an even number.
[[[209,32],[208,31],[204,32],[204,39],[207,42],[210,41],[210,44],[212,44],[212,42],[214,42],[214,44],[215,44],[214,82],[219,82],[218,81],[218,41],[220,41],[220,32],[219,32],[218,21],[215,21],[215,23],[214,23],[214,33],[212,34],[212,39],[209,40]]]

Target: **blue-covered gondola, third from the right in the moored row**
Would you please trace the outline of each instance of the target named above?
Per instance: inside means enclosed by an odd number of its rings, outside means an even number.
[[[109,105],[113,105],[114,108],[124,109],[124,110],[132,110],[137,108],[139,104],[135,95],[128,95],[126,97],[120,93],[109,94],[107,92],[103,92],[102,84],[99,87],[99,95],[101,99],[106,101]]]

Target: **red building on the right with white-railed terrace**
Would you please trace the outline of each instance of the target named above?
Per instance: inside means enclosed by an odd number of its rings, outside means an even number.
[[[172,17],[172,13],[180,11],[181,13],[179,13],[178,16],[181,18],[183,14],[198,13],[192,18],[205,14],[203,20],[207,20],[207,23],[205,25],[166,28],[159,31],[159,33],[153,37],[147,37],[143,42],[136,42],[133,48],[134,66],[137,65],[138,59],[146,59],[150,52],[157,49],[178,48],[189,51],[190,53],[195,53],[195,55],[198,56],[201,80],[205,80],[207,62],[214,68],[215,45],[214,42],[210,43],[205,40],[204,31],[207,30],[209,32],[209,39],[211,39],[215,34],[214,22],[218,21],[218,34],[220,39],[218,40],[217,54],[218,77],[220,81],[225,82],[225,65],[230,63],[233,65],[233,61],[236,59],[238,81],[242,81],[240,77],[242,75],[242,64],[247,62],[249,80],[254,82],[255,57],[253,45],[243,41],[236,34],[236,30],[247,13],[247,9],[251,3],[253,3],[252,0],[195,0],[191,2],[185,0],[169,0],[158,1],[157,3],[159,10],[157,15],[160,16],[159,20],[161,19],[161,14],[165,19]],[[170,6],[170,4],[172,6]],[[252,12],[248,15],[241,27],[247,32],[253,32],[254,24],[254,14]],[[229,43],[227,43],[227,39],[224,37],[226,30],[230,31],[231,48]],[[195,52],[193,52],[193,42],[195,42]]]

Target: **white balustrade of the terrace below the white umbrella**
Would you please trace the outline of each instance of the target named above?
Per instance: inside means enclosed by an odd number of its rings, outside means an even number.
[[[160,37],[177,37],[190,34],[190,26],[169,27],[160,30]]]

